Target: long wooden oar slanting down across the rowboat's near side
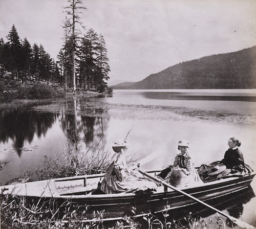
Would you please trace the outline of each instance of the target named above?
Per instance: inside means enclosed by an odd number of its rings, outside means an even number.
[[[234,217],[232,217],[232,216],[229,216],[229,215],[225,214],[224,212],[221,212],[220,210],[218,210],[218,209],[212,207],[211,205],[209,205],[209,204],[207,204],[207,203],[205,203],[205,202],[203,202],[203,201],[197,199],[196,197],[191,196],[191,195],[189,195],[189,194],[183,192],[182,190],[177,189],[177,188],[175,188],[174,186],[168,184],[167,182],[165,182],[165,181],[163,181],[163,180],[161,180],[161,179],[159,179],[159,178],[157,178],[157,177],[155,177],[155,176],[152,176],[152,175],[146,173],[145,171],[143,171],[143,170],[140,169],[140,168],[138,169],[138,171],[139,171],[140,173],[142,173],[143,175],[145,175],[145,176],[147,176],[147,177],[149,177],[149,178],[151,178],[151,179],[153,179],[153,180],[155,180],[155,181],[157,181],[157,182],[160,182],[162,185],[164,185],[164,186],[166,186],[166,187],[168,187],[168,188],[170,188],[170,189],[173,189],[173,190],[175,190],[176,192],[179,192],[179,193],[183,194],[184,196],[187,196],[187,197],[189,197],[190,199],[193,199],[193,200],[195,200],[195,201],[197,201],[197,202],[199,202],[199,203],[205,205],[206,207],[208,207],[208,208],[210,208],[210,209],[212,209],[212,210],[218,212],[220,215],[225,216],[226,218],[228,218],[229,220],[231,220],[233,223],[236,223],[238,226],[240,226],[240,227],[242,227],[242,228],[246,228],[246,229],[256,229],[256,227],[254,227],[254,226],[252,226],[252,225],[250,225],[250,224],[248,224],[248,223],[246,223],[246,222],[243,222],[242,220],[239,220],[239,219],[237,219],[237,218],[234,218]]]

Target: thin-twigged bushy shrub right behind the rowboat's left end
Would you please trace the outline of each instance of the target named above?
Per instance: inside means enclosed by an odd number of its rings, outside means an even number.
[[[45,163],[36,171],[39,179],[61,178],[103,173],[110,164],[109,152],[102,144],[87,146],[82,150],[82,141],[69,141],[65,152],[56,158],[45,157]]]

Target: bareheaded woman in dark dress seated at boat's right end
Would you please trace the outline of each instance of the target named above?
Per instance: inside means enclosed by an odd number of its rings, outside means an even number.
[[[230,173],[245,172],[244,156],[241,150],[238,148],[241,146],[241,142],[236,138],[230,138],[228,140],[229,149],[225,152],[224,158],[221,163],[231,169]]]

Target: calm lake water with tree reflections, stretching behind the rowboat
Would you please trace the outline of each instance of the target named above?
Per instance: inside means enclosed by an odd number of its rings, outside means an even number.
[[[186,139],[195,166],[223,158],[228,139],[241,142],[245,162],[256,170],[256,90],[114,90],[112,96],[91,95],[67,100],[10,105],[0,110],[1,185],[27,171],[34,172],[45,156],[65,150],[68,139],[84,145],[101,141],[111,152],[115,139],[131,143],[127,154],[158,156],[144,169],[164,168]],[[256,181],[252,181],[256,190]],[[244,221],[256,226],[255,197],[244,204]]]

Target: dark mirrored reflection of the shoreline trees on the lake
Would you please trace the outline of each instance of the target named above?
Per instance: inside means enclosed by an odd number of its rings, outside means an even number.
[[[87,106],[83,102],[81,110],[80,101],[75,97],[72,102],[65,101],[56,106],[59,107],[57,112],[35,111],[25,106],[1,110],[0,143],[12,140],[13,148],[20,156],[26,141],[31,143],[35,135],[38,138],[45,137],[56,122],[60,122],[69,143],[75,144],[80,139],[85,144],[95,140],[104,141],[103,133],[108,127],[109,119],[101,117],[102,108],[94,107],[93,103]]]

